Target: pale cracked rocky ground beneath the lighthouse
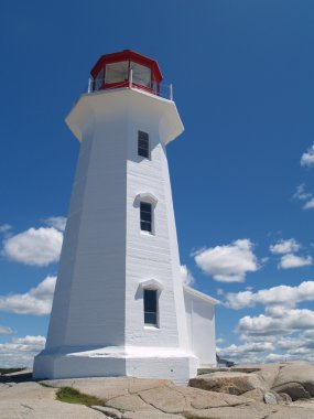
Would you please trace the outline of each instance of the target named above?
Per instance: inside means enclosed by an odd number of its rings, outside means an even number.
[[[58,401],[62,387],[95,396],[105,407]],[[314,419],[314,367],[284,363],[201,369],[188,387],[130,377],[35,383],[30,372],[22,372],[0,377],[0,418]]]

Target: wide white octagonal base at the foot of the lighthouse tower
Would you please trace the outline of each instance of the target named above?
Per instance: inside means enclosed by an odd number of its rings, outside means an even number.
[[[138,377],[171,379],[186,385],[196,376],[198,359],[177,350],[105,347],[90,351],[43,351],[35,357],[35,379]]]

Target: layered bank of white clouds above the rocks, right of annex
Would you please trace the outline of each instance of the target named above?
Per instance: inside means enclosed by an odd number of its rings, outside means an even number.
[[[264,305],[264,313],[242,316],[235,330],[243,343],[219,347],[219,355],[239,363],[303,359],[314,362],[314,311],[296,304],[314,301],[314,281],[252,292],[227,293],[232,309]]]

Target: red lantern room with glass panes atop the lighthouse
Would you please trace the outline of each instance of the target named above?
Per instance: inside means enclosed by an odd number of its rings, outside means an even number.
[[[160,94],[162,74],[158,62],[131,50],[102,55],[90,74],[93,92],[132,86]]]

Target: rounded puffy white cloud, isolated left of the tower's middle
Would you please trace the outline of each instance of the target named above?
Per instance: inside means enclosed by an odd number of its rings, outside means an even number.
[[[2,254],[25,265],[47,266],[59,258],[63,234],[53,227],[30,228],[3,241]]]

